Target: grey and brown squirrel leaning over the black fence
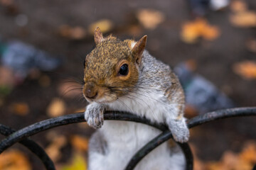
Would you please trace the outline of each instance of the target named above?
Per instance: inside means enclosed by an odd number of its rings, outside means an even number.
[[[90,103],[85,120],[98,129],[89,142],[89,170],[124,169],[139,149],[161,133],[141,123],[104,122],[105,111],[127,111],[153,123],[165,123],[176,142],[188,141],[181,84],[169,65],[144,50],[146,38],[122,41],[112,35],[103,37],[100,28],[95,29],[95,48],[85,57],[82,89]],[[177,148],[164,142],[135,169],[184,169],[185,158]]]

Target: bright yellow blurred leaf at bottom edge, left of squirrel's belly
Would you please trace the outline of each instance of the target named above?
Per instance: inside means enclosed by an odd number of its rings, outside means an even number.
[[[86,170],[87,164],[85,161],[85,157],[82,154],[75,154],[73,156],[72,162],[69,165],[65,165],[61,168],[61,170]]]

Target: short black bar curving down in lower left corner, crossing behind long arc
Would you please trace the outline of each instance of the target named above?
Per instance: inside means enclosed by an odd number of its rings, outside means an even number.
[[[11,135],[14,132],[15,132],[14,129],[9,128],[6,125],[0,124],[0,133],[1,133],[1,135],[8,136],[8,135]],[[25,139],[25,140],[21,140],[20,143],[21,143],[21,145],[30,149],[31,152],[36,154],[36,156],[39,159],[41,159],[41,162],[43,162],[46,169],[55,170],[55,166],[53,164],[53,161],[50,159],[50,157],[48,157],[48,154],[46,154],[45,150],[42,147],[40,147],[39,145],[37,145],[36,142],[33,142],[33,140]]]

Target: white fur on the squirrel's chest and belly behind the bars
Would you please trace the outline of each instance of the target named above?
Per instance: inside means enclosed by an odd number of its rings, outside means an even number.
[[[108,109],[112,111],[132,112],[144,116],[151,121],[163,123],[165,118],[164,113],[170,111],[172,108],[163,103],[163,96],[163,94],[157,91],[151,91],[150,93],[147,91],[137,91],[137,93],[131,93],[128,96],[124,96],[110,103]],[[107,141],[109,152],[105,156],[95,154],[97,161],[100,161],[100,164],[98,162],[98,166],[95,169],[99,170],[124,169],[129,159],[131,159],[139,149],[161,133],[156,128],[152,128],[148,125],[117,120],[105,120],[100,131]],[[92,164],[97,164],[97,162]],[[164,143],[144,157],[142,162],[139,162],[136,169],[176,170],[182,169],[183,164],[183,155],[174,154],[171,158],[171,151],[167,144]]]

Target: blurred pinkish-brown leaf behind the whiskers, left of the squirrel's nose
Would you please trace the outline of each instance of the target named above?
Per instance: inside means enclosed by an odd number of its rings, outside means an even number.
[[[65,98],[74,98],[82,94],[82,85],[76,82],[63,81],[58,85],[58,94]]]

